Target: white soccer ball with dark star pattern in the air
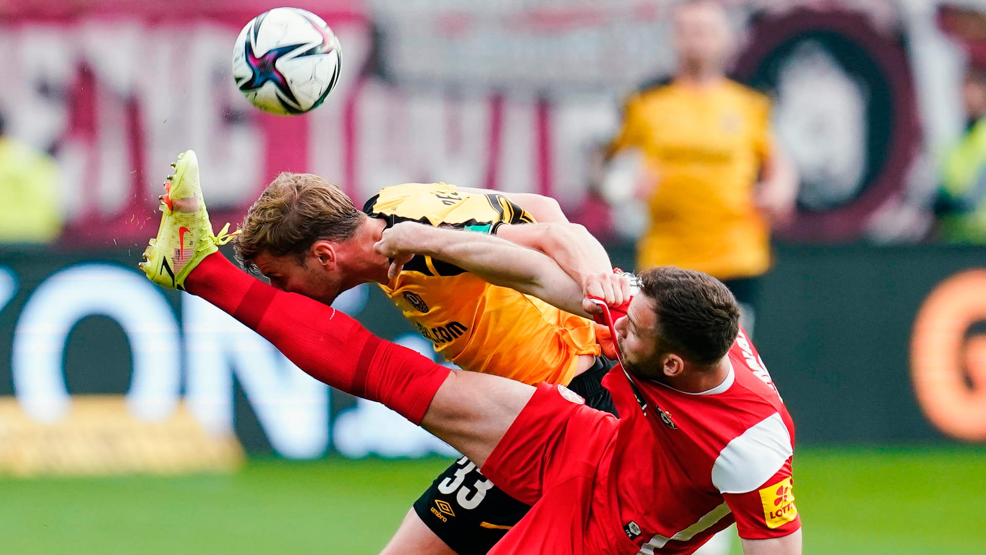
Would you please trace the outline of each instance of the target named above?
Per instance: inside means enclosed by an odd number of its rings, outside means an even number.
[[[274,8],[250,20],[233,47],[233,79],[261,110],[305,113],[335,87],[342,50],[317,15],[300,8]]]

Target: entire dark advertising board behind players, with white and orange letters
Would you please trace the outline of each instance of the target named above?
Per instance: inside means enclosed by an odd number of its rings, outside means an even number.
[[[208,303],[152,285],[137,253],[0,250],[0,474],[454,453],[310,378]],[[611,253],[632,260],[627,246]],[[754,336],[799,441],[986,442],[984,254],[778,248]],[[434,356],[375,288],[337,308]]]

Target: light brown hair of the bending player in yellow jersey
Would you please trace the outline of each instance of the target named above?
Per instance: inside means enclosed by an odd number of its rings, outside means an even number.
[[[246,211],[234,240],[237,260],[249,272],[260,253],[304,255],[316,241],[345,241],[366,215],[337,185],[312,173],[283,172]]]

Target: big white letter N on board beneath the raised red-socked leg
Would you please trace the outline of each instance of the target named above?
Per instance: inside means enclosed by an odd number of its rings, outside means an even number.
[[[312,459],[328,447],[328,388],[302,372],[243,324],[182,293],[188,352],[186,400],[207,430],[233,428],[233,374],[270,445],[288,459]]]

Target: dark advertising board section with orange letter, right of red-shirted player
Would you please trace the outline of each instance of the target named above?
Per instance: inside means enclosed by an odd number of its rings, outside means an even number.
[[[756,339],[806,443],[986,442],[986,249],[780,247]]]

